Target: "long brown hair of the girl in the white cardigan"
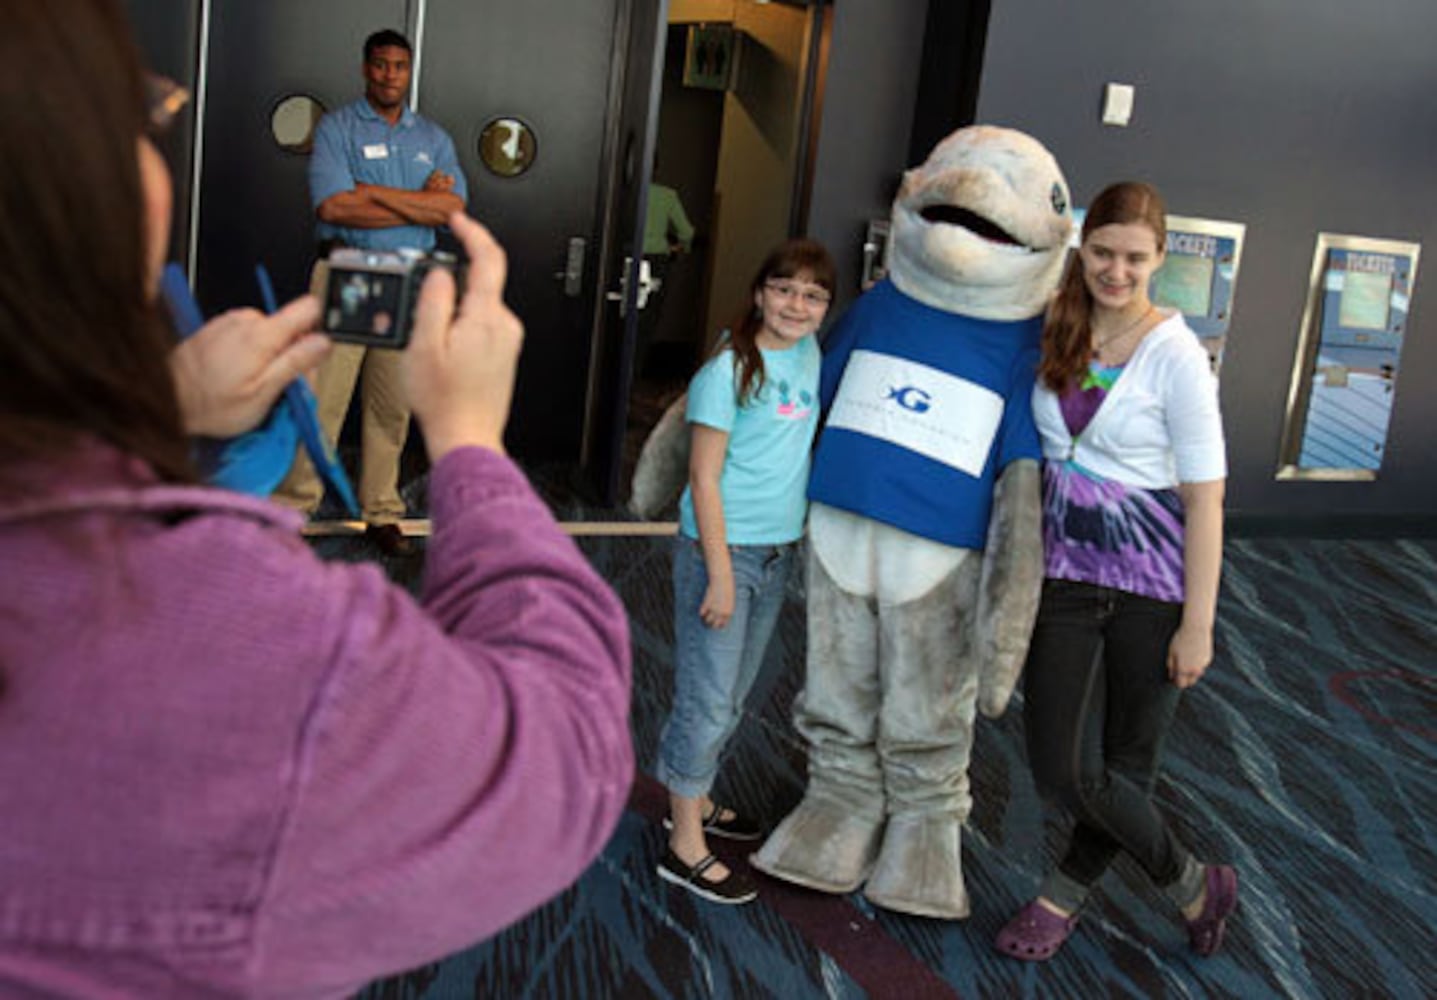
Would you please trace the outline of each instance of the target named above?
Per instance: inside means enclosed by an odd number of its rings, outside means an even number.
[[[1158,249],[1167,244],[1167,208],[1151,184],[1119,181],[1105,187],[1082,220],[1082,240],[1104,226],[1147,226]],[[1088,371],[1092,353],[1092,296],[1082,276],[1082,260],[1073,251],[1058,286],[1058,295],[1043,320],[1043,359],[1038,376],[1043,385],[1062,392]]]

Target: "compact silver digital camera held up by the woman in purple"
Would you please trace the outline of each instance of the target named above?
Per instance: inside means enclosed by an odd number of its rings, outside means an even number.
[[[410,342],[414,305],[424,276],[444,267],[463,284],[454,254],[420,250],[338,247],[315,269],[315,292],[323,306],[322,326],[335,341],[369,348],[404,349]]]

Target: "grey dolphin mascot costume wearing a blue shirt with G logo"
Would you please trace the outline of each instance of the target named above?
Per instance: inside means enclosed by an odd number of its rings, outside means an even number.
[[[1038,141],[958,129],[904,175],[890,277],[825,341],[795,703],[809,780],[752,858],[775,878],[969,915],[976,713],[1007,705],[1043,576],[1030,394],[1071,230],[1068,184]],[[675,409],[641,455],[637,510],[655,478],[683,477]]]

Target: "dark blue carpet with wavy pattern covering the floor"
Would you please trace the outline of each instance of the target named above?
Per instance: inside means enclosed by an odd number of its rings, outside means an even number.
[[[319,547],[355,557],[355,545]],[[757,902],[720,907],[655,875],[664,793],[650,774],[671,687],[668,546],[583,542],[629,608],[635,649],[641,773],[604,855],[494,940],[375,983],[365,1000],[1437,996],[1437,543],[1229,543],[1217,662],[1183,703],[1157,792],[1198,856],[1239,869],[1227,944],[1191,957],[1171,909],[1119,862],[1042,966],[990,947],[1053,843],[1013,708],[980,728],[974,749],[967,921],[767,879]],[[417,565],[391,569],[411,582]],[[789,724],[802,664],[795,580],[717,789],[770,820],[802,787]],[[726,858],[743,864],[741,851]]]

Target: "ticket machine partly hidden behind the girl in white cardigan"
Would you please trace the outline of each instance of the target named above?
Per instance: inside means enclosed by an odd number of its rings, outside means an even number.
[[[1168,216],[1167,226],[1167,257],[1152,274],[1148,296],[1154,305],[1183,313],[1207,348],[1216,374],[1227,346],[1247,227],[1186,216]]]

